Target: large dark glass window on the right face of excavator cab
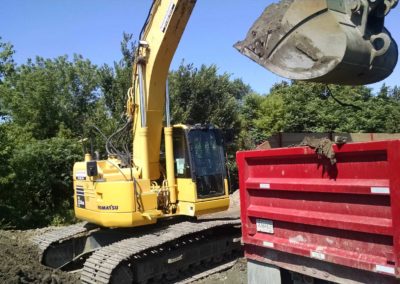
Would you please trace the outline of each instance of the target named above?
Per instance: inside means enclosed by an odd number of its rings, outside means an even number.
[[[193,128],[188,134],[192,179],[199,199],[225,193],[225,163],[223,139],[218,129]]]

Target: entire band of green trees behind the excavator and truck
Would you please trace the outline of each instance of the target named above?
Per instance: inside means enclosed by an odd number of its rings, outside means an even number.
[[[22,65],[0,38],[0,227],[73,221],[71,171],[94,126],[108,136],[125,112],[135,55],[124,34],[122,58],[101,67],[82,56],[37,57]],[[235,152],[277,132],[399,132],[400,89],[291,82],[267,95],[215,65],[184,64],[169,75],[174,123],[233,130],[227,168],[237,187]],[[94,140],[101,150],[104,141]]]

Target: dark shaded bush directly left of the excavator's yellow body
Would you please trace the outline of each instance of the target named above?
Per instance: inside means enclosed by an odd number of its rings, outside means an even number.
[[[2,188],[3,212],[7,212],[0,218],[2,223],[33,228],[70,222],[72,167],[81,153],[74,139],[56,137],[17,145],[10,159],[13,182]]]

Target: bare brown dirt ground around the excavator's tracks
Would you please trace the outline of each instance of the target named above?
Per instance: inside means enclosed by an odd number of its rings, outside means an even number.
[[[233,194],[231,210],[239,214],[239,195]],[[232,214],[232,211],[230,214]],[[228,212],[227,212],[228,213]],[[0,230],[0,283],[79,283],[79,274],[72,274],[43,266],[39,263],[38,252],[30,239],[53,228],[27,231]],[[210,275],[197,284],[247,283],[244,259],[229,270]]]

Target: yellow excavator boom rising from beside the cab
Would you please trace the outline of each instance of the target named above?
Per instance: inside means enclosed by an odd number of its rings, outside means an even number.
[[[154,0],[140,34],[128,116],[134,121],[133,162],[143,179],[160,175],[166,81],[196,0]]]

